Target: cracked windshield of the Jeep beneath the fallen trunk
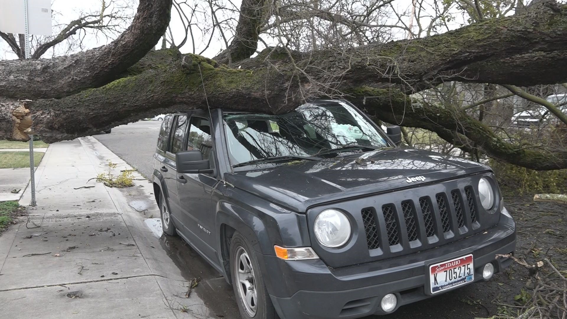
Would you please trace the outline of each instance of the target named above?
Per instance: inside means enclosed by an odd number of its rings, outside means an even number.
[[[365,117],[342,102],[304,104],[282,115],[225,112],[223,120],[232,165],[280,156],[333,154],[335,149],[336,153],[359,152],[388,146]]]

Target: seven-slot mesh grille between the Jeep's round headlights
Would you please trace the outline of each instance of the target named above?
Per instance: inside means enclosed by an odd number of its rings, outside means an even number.
[[[369,250],[404,245],[404,241],[433,244],[439,238],[447,240],[456,234],[472,234],[473,229],[480,227],[475,191],[471,186],[441,192],[434,198],[421,196],[383,204],[380,209],[383,218],[376,215],[376,209],[367,207],[361,211]],[[380,229],[386,231],[386,236],[380,236]],[[385,240],[387,245],[381,242]],[[412,243],[412,247],[420,245],[416,243]]]

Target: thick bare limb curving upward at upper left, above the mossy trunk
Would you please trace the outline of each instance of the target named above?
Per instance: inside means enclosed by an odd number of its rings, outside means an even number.
[[[172,0],[140,0],[132,25],[111,44],[40,60],[0,61],[0,96],[60,98],[111,82],[158,43]]]

